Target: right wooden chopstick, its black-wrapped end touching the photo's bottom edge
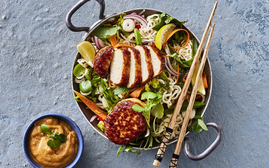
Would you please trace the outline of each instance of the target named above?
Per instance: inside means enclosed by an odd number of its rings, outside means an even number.
[[[210,34],[209,34],[209,37],[208,37],[208,40],[207,40],[207,43],[206,43],[206,49],[204,51],[204,55],[203,55],[203,58],[201,60],[200,67],[199,67],[199,70],[197,72],[197,76],[196,76],[196,80],[195,80],[195,83],[194,83],[194,86],[193,86],[192,94],[191,94],[190,99],[189,99],[189,105],[187,107],[187,111],[186,111],[185,117],[183,119],[181,130],[180,130],[180,133],[179,133],[179,136],[178,136],[178,142],[176,143],[176,148],[175,148],[175,151],[173,153],[171,163],[170,163],[170,166],[169,166],[170,168],[171,167],[176,167],[178,159],[179,159],[180,149],[181,149],[184,137],[185,137],[187,125],[189,123],[190,113],[192,112],[193,103],[195,101],[195,97],[196,97],[196,94],[197,94],[197,89],[198,89],[199,82],[200,82],[200,79],[201,79],[201,76],[202,76],[202,73],[203,73],[204,64],[206,63],[207,53],[208,53],[208,50],[209,50],[209,46],[210,46],[211,38],[212,38],[212,35],[213,35],[214,27],[215,27],[215,24],[212,25],[212,28],[211,28],[211,31],[210,31]]]

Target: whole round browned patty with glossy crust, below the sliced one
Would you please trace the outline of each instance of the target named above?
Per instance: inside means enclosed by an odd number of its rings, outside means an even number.
[[[141,135],[147,128],[147,121],[142,112],[132,109],[134,104],[144,107],[139,99],[125,99],[119,102],[105,119],[105,135],[118,145],[125,145],[132,142]]]

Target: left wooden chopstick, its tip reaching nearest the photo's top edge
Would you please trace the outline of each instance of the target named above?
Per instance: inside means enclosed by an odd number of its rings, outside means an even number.
[[[167,147],[169,138],[171,137],[171,135],[173,133],[176,118],[178,117],[178,114],[179,114],[180,109],[182,107],[185,95],[186,95],[186,93],[187,93],[187,91],[189,89],[189,85],[190,85],[190,82],[192,80],[192,76],[193,76],[195,67],[197,65],[197,62],[199,61],[199,57],[201,55],[201,52],[202,52],[202,49],[203,49],[203,46],[204,46],[204,42],[206,41],[206,36],[208,34],[210,25],[212,23],[214,13],[215,13],[216,8],[217,8],[217,4],[218,4],[218,1],[216,1],[215,5],[214,5],[214,8],[213,8],[213,10],[211,12],[210,18],[209,18],[209,20],[207,22],[207,25],[206,25],[206,29],[204,30],[204,34],[203,34],[203,37],[201,39],[201,43],[200,43],[199,47],[197,48],[197,52],[196,52],[196,54],[194,56],[193,63],[192,63],[192,65],[190,67],[190,70],[189,70],[189,74],[188,74],[188,76],[186,78],[185,84],[184,84],[184,86],[182,88],[182,91],[181,91],[181,94],[180,94],[180,96],[178,98],[178,102],[176,103],[174,113],[171,116],[171,120],[170,120],[170,122],[168,124],[168,127],[165,130],[164,137],[162,138],[161,145],[160,145],[160,147],[158,149],[157,154],[155,155],[154,162],[153,162],[154,166],[160,166],[160,163],[162,161],[162,157],[163,157],[165,149]]]

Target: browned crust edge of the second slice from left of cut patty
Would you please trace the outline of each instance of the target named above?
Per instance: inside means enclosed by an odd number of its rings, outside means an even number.
[[[123,70],[122,70],[122,76],[121,81],[117,83],[117,86],[126,86],[129,82],[130,77],[130,62],[131,62],[131,53],[128,51],[127,48],[120,48],[119,50],[122,51],[123,55]]]

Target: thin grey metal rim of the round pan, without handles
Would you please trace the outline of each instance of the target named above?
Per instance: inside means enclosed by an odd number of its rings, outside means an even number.
[[[163,11],[161,11],[161,10],[157,10],[157,9],[151,9],[151,8],[135,8],[135,9],[125,10],[125,11],[123,11],[123,12],[119,12],[119,13],[112,13],[112,14],[106,15],[105,18],[104,18],[103,20],[98,20],[97,22],[95,22],[94,24],[92,24],[92,25],[90,26],[90,30],[87,31],[87,32],[83,35],[83,37],[82,37],[82,41],[88,41],[88,40],[89,40],[88,37],[90,37],[90,34],[93,32],[93,30],[94,30],[95,28],[99,27],[102,23],[106,22],[108,19],[110,19],[110,18],[112,18],[112,17],[118,17],[121,13],[126,13],[126,14],[127,14],[127,13],[129,13],[129,12],[134,12],[134,10],[143,10],[143,9],[146,10],[146,11],[150,11],[150,10],[152,10],[152,11],[154,11],[154,12],[156,12],[156,13],[163,13]],[[167,13],[167,14],[170,15],[169,13]],[[172,15],[170,15],[170,16],[172,16]],[[173,16],[173,17],[174,17],[174,16]],[[175,18],[176,18],[176,17],[175,17]],[[176,18],[176,19],[177,19],[177,18]],[[197,36],[196,36],[196,35],[195,35],[195,34],[194,34],[194,33],[193,33],[187,26],[185,26],[184,24],[182,24],[182,26],[183,26],[183,28],[184,28],[185,30],[187,30],[187,31],[188,31],[188,32],[189,32],[189,33],[190,33],[190,34],[197,40],[197,43],[200,45],[200,40],[199,40],[199,38],[197,38]],[[204,48],[203,48],[203,50],[202,50],[201,55],[203,54],[203,52],[204,52]],[[79,52],[77,52],[77,53],[76,53],[76,56],[75,56],[75,58],[74,58],[74,61],[73,61],[73,67],[72,67],[72,72],[71,72],[71,76],[72,76],[72,80],[71,80],[72,90],[75,90],[74,85],[77,84],[77,83],[74,81],[73,69],[74,69],[74,67],[77,65],[77,58],[78,58],[79,55],[80,55]],[[209,101],[210,101],[211,92],[212,92],[212,83],[213,83],[213,81],[212,81],[212,69],[211,69],[211,65],[210,65],[210,61],[209,61],[209,58],[208,58],[208,57],[206,58],[206,63],[208,63],[208,69],[209,69],[209,72],[210,72],[210,81],[208,81],[208,82],[210,82],[210,87],[208,87],[208,92],[209,92],[209,94],[208,94],[208,98],[207,98],[207,103],[206,103],[206,105],[203,107],[203,110],[202,110],[201,115],[200,115],[201,117],[203,117],[204,113],[206,112],[208,103],[209,103]],[[73,96],[74,96],[74,97],[76,96],[74,92],[73,92]],[[108,139],[108,138],[104,135],[104,133],[101,133],[100,130],[98,130],[97,128],[95,128],[95,127],[93,126],[93,124],[89,121],[89,119],[87,119],[86,115],[85,115],[84,112],[82,111],[82,107],[80,106],[80,102],[77,102],[77,101],[75,101],[75,102],[76,102],[76,104],[77,104],[77,106],[78,106],[80,112],[82,113],[82,115],[84,116],[84,118],[88,121],[88,123],[90,124],[90,126],[91,126],[95,131],[97,131],[102,137]],[[192,132],[189,132],[189,131],[186,132],[186,133],[185,133],[185,136],[189,135],[190,133],[192,133]],[[178,140],[178,138],[169,140],[168,145],[169,145],[169,144],[173,144],[173,143],[175,143],[177,140]],[[151,149],[155,149],[155,148],[158,148],[158,147],[159,147],[159,146],[157,145],[157,146],[152,147]],[[136,147],[133,147],[133,148],[136,148]],[[137,149],[138,149],[138,148],[137,148]]]

